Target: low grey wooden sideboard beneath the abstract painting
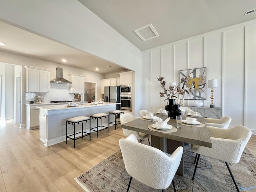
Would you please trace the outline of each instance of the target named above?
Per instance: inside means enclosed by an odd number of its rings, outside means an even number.
[[[190,110],[200,113],[203,117],[220,119],[222,118],[222,109],[220,107],[210,108],[210,107],[194,107],[186,106]]]

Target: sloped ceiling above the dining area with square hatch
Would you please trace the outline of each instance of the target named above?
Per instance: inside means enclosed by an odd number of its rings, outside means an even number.
[[[256,19],[256,0],[79,0],[140,50]],[[152,24],[159,37],[134,30]]]

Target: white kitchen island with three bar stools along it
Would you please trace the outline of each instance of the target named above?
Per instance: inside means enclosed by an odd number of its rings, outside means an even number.
[[[67,104],[60,105],[42,105],[37,106],[40,109],[40,140],[46,147],[66,141],[66,120],[76,116],[90,117],[96,113],[106,113],[116,110],[116,105],[120,103],[108,103],[91,105],[85,103],[75,107],[68,107]],[[110,122],[114,121],[114,116],[110,116]],[[107,119],[102,119],[102,125],[107,126]],[[96,127],[96,120],[92,120],[91,127]],[[90,124],[86,123],[85,129],[89,131]],[[76,132],[81,131],[81,125],[76,126]],[[68,134],[73,129],[68,129]],[[79,134],[77,135],[79,136]]]

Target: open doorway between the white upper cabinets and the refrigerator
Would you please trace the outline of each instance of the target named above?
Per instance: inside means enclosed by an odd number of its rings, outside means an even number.
[[[97,82],[85,81],[84,82],[84,101],[93,102],[97,101]]]

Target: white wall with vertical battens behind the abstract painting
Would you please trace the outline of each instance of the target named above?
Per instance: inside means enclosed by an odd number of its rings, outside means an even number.
[[[231,127],[244,125],[256,134],[256,20],[191,37],[142,52],[143,98],[145,109],[163,108],[158,76],[167,84],[179,81],[179,70],[206,67],[207,80],[218,79],[214,104],[222,107],[222,116],[230,116]],[[158,90],[158,92],[156,92]],[[204,106],[210,106],[207,87]],[[191,100],[186,100],[189,105]]]

